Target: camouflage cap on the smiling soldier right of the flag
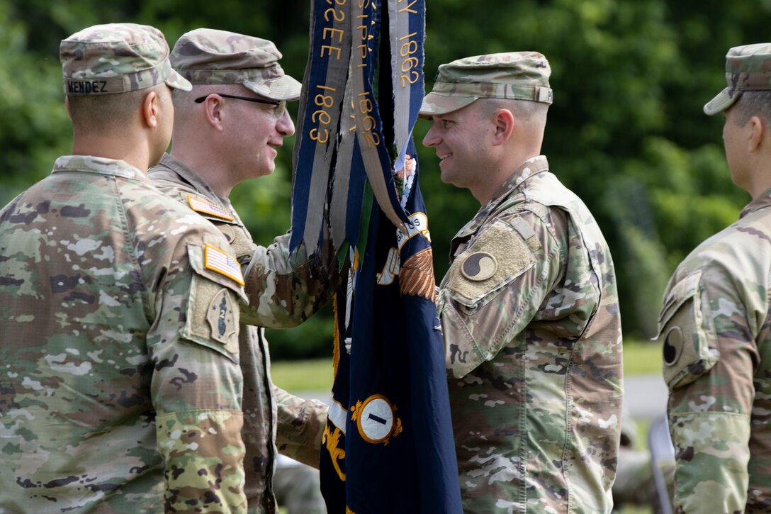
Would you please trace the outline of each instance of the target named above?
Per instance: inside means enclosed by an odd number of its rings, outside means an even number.
[[[480,98],[510,98],[550,104],[551,68],[538,52],[491,53],[439,66],[420,116],[451,113]]]

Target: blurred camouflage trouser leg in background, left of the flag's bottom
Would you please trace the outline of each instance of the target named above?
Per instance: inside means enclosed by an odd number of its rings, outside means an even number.
[[[281,514],[326,514],[318,469],[290,459],[280,460],[273,476],[273,492]]]

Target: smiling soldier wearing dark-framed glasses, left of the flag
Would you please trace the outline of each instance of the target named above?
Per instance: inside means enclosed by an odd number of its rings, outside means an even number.
[[[265,39],[214,29],[184,34],[170,60],[193,90],[175,93],[173,150],[150,170],[157,188],[224,233],[244,270],[250,298],[240,336],[246,490],[255,512],[274,509],[276,445],[284,455],[318,468],[327,414],[325,404],[271,384],[261,326],[302,323],[331,299],[336,283],[329,271],[335,262],[331,252],[309,257],[300,249],[290,255],[289,234],[268,248],[255,245],[228,200],[239,182],[274,170],[276,149],[295,131],[286,103],[298,99],[301,84],[284,74],[278,59],[281,53]]]

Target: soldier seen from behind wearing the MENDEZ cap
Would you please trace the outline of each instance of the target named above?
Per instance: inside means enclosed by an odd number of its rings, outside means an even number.
[[[73,155],[0,211],[0,512],[246,512],[241,269],[146,177],[190,90],[168,55],[61,43]]]

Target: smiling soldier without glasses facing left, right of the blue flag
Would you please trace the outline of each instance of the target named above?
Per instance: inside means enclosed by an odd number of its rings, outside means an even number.
[[[540,154],[537,52],[439,66],[421,115],[444,182],[483,207],[453,238],[437,308],[465,512],[609,512],[621,323],[597,222]]]

